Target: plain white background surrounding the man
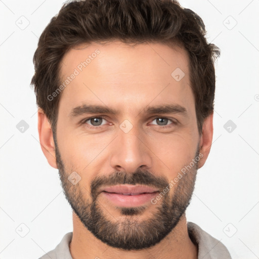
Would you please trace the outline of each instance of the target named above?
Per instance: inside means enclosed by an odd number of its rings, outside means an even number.
[[[36,259],[72,231],[72,210],[58,170],[48,164],[38,143],[30,88],[38,37],[62,3],[0,1],[1,259]],[[201,16],[208,41],[221,49],[213,144],[198,170],[187,220],[221,240],[233,258],[259,258],[259,1],[180,4]],[[21,19],[23,25],[29,22],[24,30],[16,25]],[[16,128],[21,120],[29,125],[24,133]],[[237,125],[231,133],[224,128],[228,120]]]

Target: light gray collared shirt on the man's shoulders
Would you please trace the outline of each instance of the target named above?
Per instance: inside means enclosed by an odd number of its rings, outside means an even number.
[[[188,222],[187,228],[192,242],[198,246],[198,259],[231,259],[226,246],[210,236],[198,225]],[[65,234],[55,249],[39,259],[72,259],[69,251],[69,243],[72,240],[72,235],[73,232]]]

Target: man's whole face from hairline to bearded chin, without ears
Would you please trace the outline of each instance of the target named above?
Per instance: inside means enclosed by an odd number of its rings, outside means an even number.
[[[82,224],[108,245],[155,245],[184,214],[198,168],[187,53],[115,41],[78,46],[62,61],[62,81],[75,74],[63,90],[54,136],[67,200]],[[174,109],[150,109],[169,105]],[[107,189],[121,185],[153,189],[138,195]]]

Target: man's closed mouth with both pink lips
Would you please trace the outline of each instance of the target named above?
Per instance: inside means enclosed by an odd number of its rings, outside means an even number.
[[[121,207],[140,206],[151,201],[159,190],[149,186],[117,185],[104,187],[101,194],[112,204]]]

